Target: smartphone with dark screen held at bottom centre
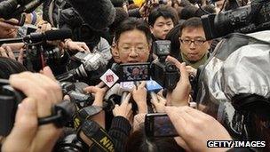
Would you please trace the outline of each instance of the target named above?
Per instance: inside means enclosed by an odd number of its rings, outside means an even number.
[[[175,130],[167,114],[147,114],[145,119],[147,137],[176,137],[179,133]]]

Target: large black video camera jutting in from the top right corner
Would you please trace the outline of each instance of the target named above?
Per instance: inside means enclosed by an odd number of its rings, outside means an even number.
[[[227,12],[202,16],[207,40],[239,32],[243,34],[270,28],[270,2],[253,0],[250,5]]]

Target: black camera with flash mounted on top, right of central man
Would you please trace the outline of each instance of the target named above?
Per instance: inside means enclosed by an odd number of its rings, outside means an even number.
[[[155,41],[153,50],[158,56],[151,64],[152,79],[168,90],[173,90],[179,82],[179,69],[169,61],[167,56],[171,52],[171,41]]]

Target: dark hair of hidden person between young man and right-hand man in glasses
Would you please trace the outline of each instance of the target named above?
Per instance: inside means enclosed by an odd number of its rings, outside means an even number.
[[[165,38],[166,40],[171,41],[170,55],[178,60],[179,60],[179,48],[180,48],[180,42],[179,42],[180,27],[182,26],[184,21],[185,20],[179,20],[179,24],[175,26],[174,28],[172,28]]]

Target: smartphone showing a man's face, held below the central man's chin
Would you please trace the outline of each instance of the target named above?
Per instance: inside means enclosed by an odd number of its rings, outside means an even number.
[[[150,80],[150,63],[125,63],[121,64],[120,81],[146,81]]]

